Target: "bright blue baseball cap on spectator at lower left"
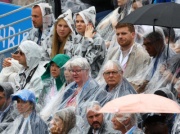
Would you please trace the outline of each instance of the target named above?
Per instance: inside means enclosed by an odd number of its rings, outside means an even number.
[[[17,93],[12,95],[12,101],[17,100],[18,98],[20,98],[21,100],[23,100],[25,102],[30,101],[30,102],[36,104],[36,97],[35,97],[34,93],[28,89],[20,90]]]

